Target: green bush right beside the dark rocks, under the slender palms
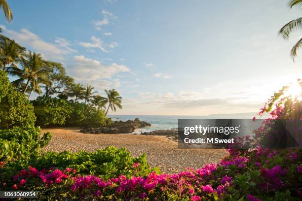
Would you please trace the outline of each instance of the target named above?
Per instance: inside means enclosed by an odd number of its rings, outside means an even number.
[[[91,105],[77,102],[71,102],[70,105],[72,113],[66,120],[67,126],[100,127],[108,122],[103,110],[97,110]]]

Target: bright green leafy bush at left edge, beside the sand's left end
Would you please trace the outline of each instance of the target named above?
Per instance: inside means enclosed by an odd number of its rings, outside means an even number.
[[[51,139],[50,133],[40,138],[40,132],[39,127],[33,126],[0,130],[0,161],[16,162],[36,154]]]

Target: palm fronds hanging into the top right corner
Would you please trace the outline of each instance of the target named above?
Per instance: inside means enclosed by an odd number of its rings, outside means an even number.
[[[292,8],[293,6],[301,7],[302,0],[291,0],[289,2],[289,6],[290,6],[290,8]],[[302,29],[302,17],[292,20],[289,23],[287,23],[286,25],[284,25],[280,29],[279,35],[282,35],[284,39],[289,39],[290,33],[292,33],[293,31],[296,31],[298,29]],[[301,45],[302,45],[302,38],[300,38],[300,40],[298,40],[298,42],[293,46],[293,48],[291,50],[291,56],[294,61],[295,61],[294,58],[297,56],[297,50],[301,47]]]

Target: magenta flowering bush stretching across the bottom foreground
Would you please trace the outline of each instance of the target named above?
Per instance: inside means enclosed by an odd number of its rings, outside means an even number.
[[[237,154],[229,151],[219,164],[188,168],[177,174],[153,171],[147,176],[121,174],[104,179],[81,175],[73,168],[29,167],[1,185],[3,189],[38,190],[40,199],[54,196],[80,200],[281,201],[301,196],[300,151],[260,148]],[[138,166],[133,164],[133,168]]]

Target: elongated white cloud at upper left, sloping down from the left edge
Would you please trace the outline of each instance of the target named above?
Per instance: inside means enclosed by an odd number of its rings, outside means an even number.
[[[76,52],[71,48],[71,43],[64,38],[56,38],[55,43],[46,42],[39,38],[35,33],[26,29],[21,29],[20,32],[7,29],[5,26],[0,25],[5,35],[13,38],[23,46],[27,46],[33,51],[42,54],[45,59],[64,60],[64,55]]]

